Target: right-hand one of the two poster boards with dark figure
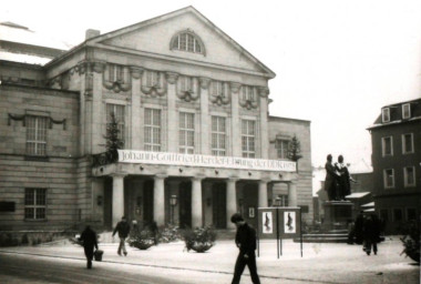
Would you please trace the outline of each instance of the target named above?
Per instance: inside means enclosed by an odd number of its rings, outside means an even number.
[[[280,239],[300,237],[301,211],[299,207],[278,207],[277,220]]]

